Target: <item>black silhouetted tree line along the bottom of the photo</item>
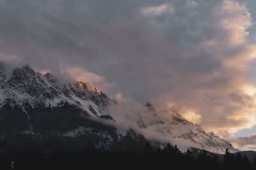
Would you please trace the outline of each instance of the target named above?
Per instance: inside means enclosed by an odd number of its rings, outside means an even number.
[[[196,154],[195,154],[196,153]],[[256,157],[241,153],[212,154],[205,150],[181,152],[177,145],[156,148],[147,143],[141,152],[100,150],[90,147],[79,153],[17,153],[0,156],[0,168],[60,169],[84,167],[93,169],[256,169]]]

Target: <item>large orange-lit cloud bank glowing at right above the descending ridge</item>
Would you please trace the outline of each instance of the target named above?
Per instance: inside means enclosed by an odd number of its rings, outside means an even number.
[[[157,104],[162,108],[164,101],[167,101],[167,107],[172,105],[173,110],[191,122],[199,123],[206,131],[222,135],[225,129],[225,132],[232,134],[256,125],[256,88],[249,76],[250,63],[256,57],[256,46],[248,41],[247,31],[252,25],[252,18],[244,4],[233,0],[217,4],[211,17],[212,23],[220,26],[225,38],[213,36],[205,39],[184,57],[189,60],[206,50],[207,55],[218,60],[220,67],[207,74],[193,74],[193,69],[196,69],[193,67],[192,73],[182,75],[184,80],[175,80],[181,81],[180,85],[172,86],[158,96]],[[208,71],[207,68],[204,70]]]

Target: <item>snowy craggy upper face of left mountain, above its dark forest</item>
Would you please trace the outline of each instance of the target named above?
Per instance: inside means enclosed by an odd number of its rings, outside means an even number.
[[[15,68],[8,79],[4,64],[0,64],[0,85],[0,106],[20,106],[24,111],[26,104],[32,108],[70,104],[89,115],[100,116],[111,101],[88,83],[60,83],[51,73],[36,73],[28,64]]]

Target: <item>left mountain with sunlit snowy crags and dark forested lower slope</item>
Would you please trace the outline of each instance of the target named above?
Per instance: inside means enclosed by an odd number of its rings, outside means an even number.
[[[81,152],[96,147],[141,150],[148,143],[131,129],[116,129],[107,106],[115,101],[88,83],[61,83],[30,66],[6,75],[1,63],[0,151]],[[110,119],[110,120],[109,120]]]

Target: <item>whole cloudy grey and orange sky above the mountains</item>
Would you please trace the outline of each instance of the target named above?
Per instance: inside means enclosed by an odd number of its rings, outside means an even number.
[[[0,0],[0,59],[256,149],[256,1]]]

